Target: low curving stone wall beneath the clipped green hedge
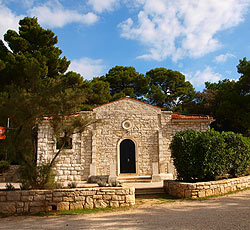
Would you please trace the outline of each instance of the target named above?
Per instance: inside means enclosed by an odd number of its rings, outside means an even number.
[[[164,181],[164,189],[166,193],[181,198],[223,195],[249,187],[250,176],[199,183],[184,183],[173,180]]]

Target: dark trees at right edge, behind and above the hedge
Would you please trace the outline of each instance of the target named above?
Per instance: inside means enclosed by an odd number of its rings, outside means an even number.
[[[206,82],[203,92],[184,104],[184,112],[211,115],[216,119],[212,124],[216,130],[250,136],[250,61],[243,58],[237,68],[241,74],[238,81]]]

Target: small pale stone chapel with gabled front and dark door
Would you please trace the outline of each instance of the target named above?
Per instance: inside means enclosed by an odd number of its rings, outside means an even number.
[[[56,162],[56,181],[86,181],[90,176],[109,175],[172,179],[175,168],[170,143],[176,132],[186,129],[205,131],[213,121],[208,116],[186,116],[125,97],[97,106],[79,115],[93,116],[101,123],[72,136],[72,147]],[[38,163],[52,159],[57,151],[49,121],[38,131]]]

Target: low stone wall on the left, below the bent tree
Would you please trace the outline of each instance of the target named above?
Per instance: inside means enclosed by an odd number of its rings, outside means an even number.
[[[134,187],[0,191],[2,214],[123,207],[134,204]]]

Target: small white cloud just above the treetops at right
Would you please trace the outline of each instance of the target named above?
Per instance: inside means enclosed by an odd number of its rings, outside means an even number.
[[[194,74],[188,73],[184,75],[196,89],[202,88],[206,81],[218,82],[224,78],[221,74],[215,73],[210,66],[207,66],[203,71],[198,70]]]

